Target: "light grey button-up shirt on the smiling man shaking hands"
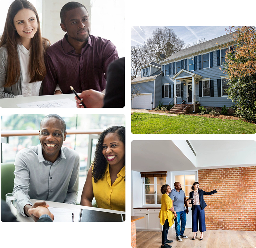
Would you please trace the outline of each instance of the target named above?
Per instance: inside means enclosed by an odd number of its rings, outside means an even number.
[[[15,158],[14,188],[18,195],[17,209],[24,216],[24,206],[30,201],[56,201],[76,204],[79,179],[79,154],[61,147],[60,157],[54,163],[44,159],[42,146],[20,150]]]

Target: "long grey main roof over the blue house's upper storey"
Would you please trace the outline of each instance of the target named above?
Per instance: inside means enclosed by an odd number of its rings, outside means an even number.
[[[179,52],[177,52],[177,53],[169,56],[168,58],[166,58],[163,62],[165,62],[167,60],[176,59],[176,58],[179,58],[179,57],[182,57],[182,56],[186,56],[186,55],[189,55],[189,54],[197,53],[197,52],[200,52],[204,49],[208,49],[208,48],[211,48],[211,47],[216,47],[217,46],[216,42],[218,42],[218,45],[223,45],[223,44],[228,43],[230,41],[234,41],[233,35],[235,33],[236,32],[229,33],[229,34],[226,34],[226,35],[222,35],[218,38],[208,40],[208,41],[202,42],[200,44],[197,44],[195,46],[182,49]],[[160,62],[160,63],[163,63],[163,62]]]

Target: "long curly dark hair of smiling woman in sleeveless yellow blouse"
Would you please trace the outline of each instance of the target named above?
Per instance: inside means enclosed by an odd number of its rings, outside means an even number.
[[[124,143],[125,147],[125,128],[123,126],[113,126],[106,130],[104,130],[98,139],[96,144],[94,159],[93,159],[93,171],[92,176],[94,178],[94,183],[97,183],[99,179],[104,177],[104,173],[107,168],[108,161],[102,154],[102,144],[105,136],[108,133],[116,133],[119,136],[119,139]],[[124,165],[125,165],[125,158],[124,158]]]

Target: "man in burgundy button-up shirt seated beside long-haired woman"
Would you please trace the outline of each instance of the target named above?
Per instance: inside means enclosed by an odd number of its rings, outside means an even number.
[[[67,33],[46,51],[43,95],[73,93],[70,86],[77,93],[89,89],[103,91],[108,65],[118,59],[116,46],[90,34],[89,15],[80,3],[65,4],[60,19],[60,26]]]

